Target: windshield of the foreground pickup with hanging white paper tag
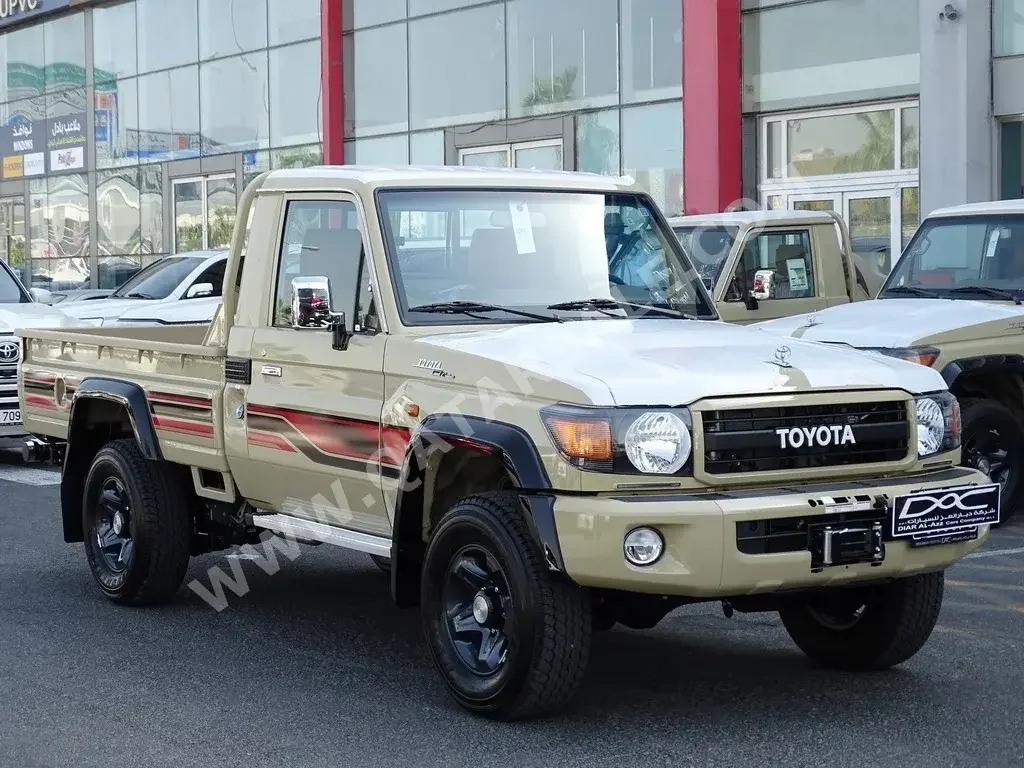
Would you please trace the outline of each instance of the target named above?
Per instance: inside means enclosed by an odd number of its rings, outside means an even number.
[[[645,197],[514,189],[384,190],[378,197],[395,292],[412,325],[451,323],[410,311],[451,301],[536,311],[613,299],[715,316],[679,243]],[[642,308],[630,313],[643,314]],[[499,310],[459,322],[523,318]]]

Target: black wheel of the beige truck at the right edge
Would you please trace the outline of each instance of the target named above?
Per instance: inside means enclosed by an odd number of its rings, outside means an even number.
[[[963,463],[999,483],[999,510],[1009,520],[1024,503],[1024,430],[1013,413],[994,400],[961,400]]]

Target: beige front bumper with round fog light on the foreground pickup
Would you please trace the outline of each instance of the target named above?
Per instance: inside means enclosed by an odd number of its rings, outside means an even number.
[[[957,544],[913,547],[885,542],[880,563],[812,569],[811,552],[744,554],[737,545],[737,523],[750,529],[765,520],[824,519],[822,497],[870,496],[872,499],[949,487],[987,484],[988,478],[956,467],[913,477],[849,480],[705,494],[652,496],[560,496],[554,502],[555,524],[565,572],[585,587],[687,597],[735,597],[815,587],[835,587],[942,570],[988,538]],[[656,527],[665,554],[653,565],[630,565],[623,540],[634,527]]]

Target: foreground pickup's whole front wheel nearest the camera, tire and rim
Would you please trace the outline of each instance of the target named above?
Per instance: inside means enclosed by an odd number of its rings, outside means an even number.
[[[551,573],[518,499],[464,499],[427,547],[421,583],[427,644],[463,708],[524,720],[561,708],[590,655],[591,602]]]

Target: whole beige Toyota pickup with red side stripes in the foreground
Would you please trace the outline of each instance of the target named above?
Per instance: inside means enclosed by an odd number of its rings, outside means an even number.
[[[361,551],[455,699],[521,719],[593,630],[687,603],[900,664],[998,520],[937,372],[718,322],[628,179],[273,171],[237,221],[208,328],[20,332],[63,538],[117,603],[236,545]],[[657,268],[612,274],[624,243]]]

